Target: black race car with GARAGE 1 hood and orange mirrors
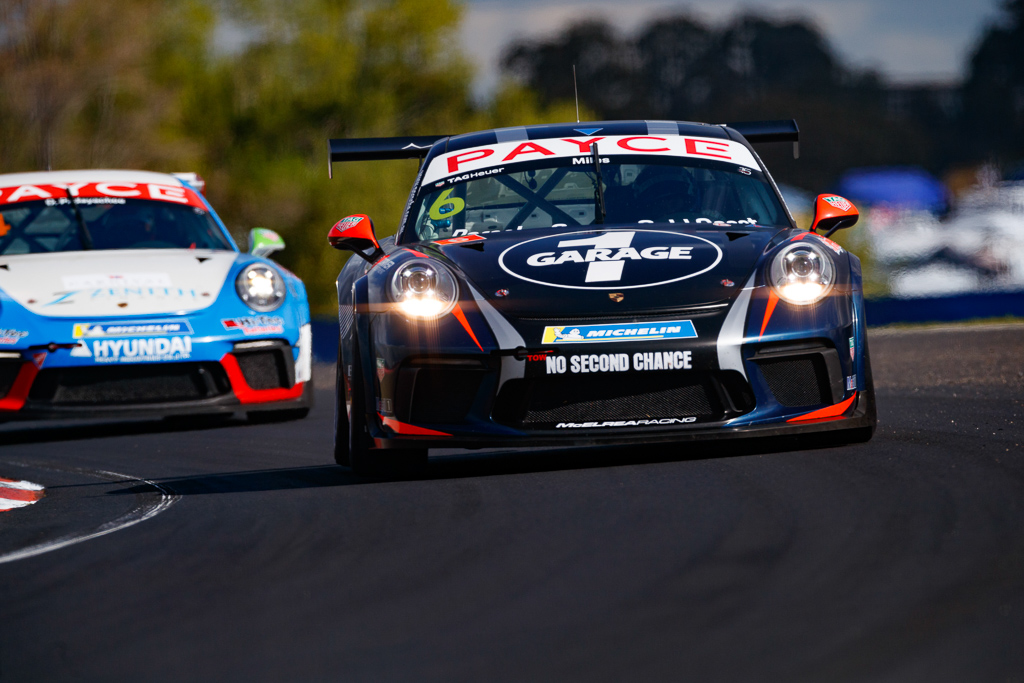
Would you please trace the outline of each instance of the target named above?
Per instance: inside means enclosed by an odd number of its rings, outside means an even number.
[[[395,238],[329,236],[338,276],[335,457],[592,445],[876,425],[857,221],[818,197],[798,229],[751,142],[796,122],[622,121],[331,140],[419,158]]]

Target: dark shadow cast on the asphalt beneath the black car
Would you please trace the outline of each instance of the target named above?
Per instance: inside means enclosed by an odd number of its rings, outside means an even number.
[[[158,478],[155,481],[162,488],[179,496],[209,496],[717,460],[834,447],[836,445],[834,440],[811,439],[805,436],[802,438],[743,439],[729,443],[659,444],[645,446],[642,450],[638,450],[636,446],[604,446],[572,450],[460,452],[431,456],[429,464],[420,471],[394,476],[360,476],[353,474],[347,467],[332,464]],[[138,483],[109,492],[106,495],[126,496],[154,492],[155,487],[152,484]]]

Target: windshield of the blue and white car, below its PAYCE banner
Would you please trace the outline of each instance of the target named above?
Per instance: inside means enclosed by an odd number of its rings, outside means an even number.
[[[93,249],[231,249],[196,206],[111,197],[77,198]],[[0,206],[0,254],[82,251],[83,231],[66,198]]]

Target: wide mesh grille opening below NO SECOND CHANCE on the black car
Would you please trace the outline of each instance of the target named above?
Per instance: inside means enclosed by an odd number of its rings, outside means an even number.
[[[726,415],[722,394],[711,377],[630,376],[542,377],[510,380],[502,388],[493,417],[520,428],[559,422],[602,422],[693,417],[697,422]]]

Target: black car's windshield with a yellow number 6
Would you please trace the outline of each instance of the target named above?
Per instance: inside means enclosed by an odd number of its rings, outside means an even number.
[[[603,150],[599,155],[600,187],[591,155],[552,156],[424,183],[410,214],[413,239],[596,223],[791,227],[756,167],[687,157],[604,156]]]

